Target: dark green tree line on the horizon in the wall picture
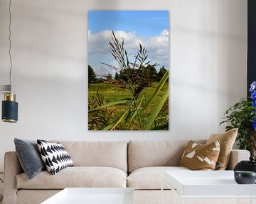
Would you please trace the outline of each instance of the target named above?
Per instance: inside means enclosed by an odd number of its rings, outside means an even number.
[[[127,70],[126,70],[127,71]],[[156,71],[156,67],[148,65],[146,67],[142,67],[142,73],[144,74],[144,77],[147,79],[152,79],[152,81],[160,81],[161,78],[164,76],[164,74],[167,72],[167,69],[165,69],[164,66],[162,66],[159,69],[159,72]],[[127,75],[121,70],[119,73],[115,72],[114,77],[112,74],[106,74],[104,76],[97,76],[95,74],[95,71],[93,68],[88,65],[88,83],[102,83],[103,81],[114,79],[114,80],[119,80],[122,79],[124,81],[127,81]]]

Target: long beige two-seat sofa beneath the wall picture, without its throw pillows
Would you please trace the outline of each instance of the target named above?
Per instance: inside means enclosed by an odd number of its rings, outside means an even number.
[[[54,176],[41,171],[29,180],[16,152],[6,152],[3,204],[41,203],[67,187],[131,187],[136,204],[159,204],[164,171],[191,171],[178,167],[187,141],[58,142],[70,154],[74,167]],[[233,150],[228,169],[249,155],[245,150]],[[164,189],[164,203],[169,203],[172,193],[167,186]]]

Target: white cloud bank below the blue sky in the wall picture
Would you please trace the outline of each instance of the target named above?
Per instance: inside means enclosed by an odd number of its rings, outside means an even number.
[[[133,62],[134,55],[139,50],[139,43],[141,43],[147,49],[149,60],[152,63],[160,64],[164,67],[169,67],[169,31],[163,30],[159,35],[154,37],[142,37],[138,36],[135,32],[125,32],[123,30],[117,30],[114,32],[117,39],[124,38],[124,47],[129,54],[129,60]],[[107,64],[117,64],[112,55],[110,54],[109,40],[111,40],[111,30],[102,30],[99,33],[91,33],[88,31],[88,52],[89,52],[89,64],[95,70],[98,75],[112,73],[114,77],[114,70],[105,66],[101,62]],[[160,68],[159,66],[158,68]]]

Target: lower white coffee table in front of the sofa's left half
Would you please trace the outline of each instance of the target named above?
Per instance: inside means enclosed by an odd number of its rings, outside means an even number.
[[[42,204],[134,204],[134,188],[65,188]]]

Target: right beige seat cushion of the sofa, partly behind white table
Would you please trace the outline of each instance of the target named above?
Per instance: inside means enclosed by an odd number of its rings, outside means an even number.
[[[127,187],[139,190],[161,189],[164,171],[191,171],[179,166],[152,166],[132,171],[127,177]],[[164,184],[164,189],[170,189]]]

